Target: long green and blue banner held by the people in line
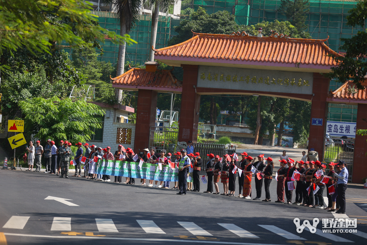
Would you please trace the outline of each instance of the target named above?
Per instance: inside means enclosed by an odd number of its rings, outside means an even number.
[[[137,162],[99,159],[97,173],[147,180],[178,181],[177,168],[171,169],[169,165],[162,165],[162,170],[159,170],[159,165],[152,163],[143,163],[140,167]]]

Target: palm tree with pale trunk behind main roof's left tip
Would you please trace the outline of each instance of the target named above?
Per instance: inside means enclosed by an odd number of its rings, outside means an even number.
[[[150,30],[149,61],[154,61],[154,51],[152,50],[152,46],[156,47],[159,10],[161,10],[161,12],[168,13],[170,6],[174,5],[176,2],[177,0],[144,0],[144,3],[148,3],[150,6],[152,6],[152,28]]]

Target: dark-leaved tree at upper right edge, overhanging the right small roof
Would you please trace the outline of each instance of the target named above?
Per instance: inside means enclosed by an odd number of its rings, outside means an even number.
[[[347,25],[364,26],[367,19],[367,0],[359,1],[355,8],[348,11],[350,15],[346,17]],[[357,89],[364,89],[361,84],[367,74],[367,29],[364,32],[359,31],[350,39],[341,38],[344,45],[341,50],[345,50],[345,57],[331,55],[339,63],[337,67],[331,67],[330,73],[325,74],[330,79],[337,79],[337,82],[344,83],[352,80]]]

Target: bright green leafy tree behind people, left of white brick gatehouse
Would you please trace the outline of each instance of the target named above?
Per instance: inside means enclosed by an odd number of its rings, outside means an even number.
[[[41,140],[86,142],[94,134],[91,129],[102,128],[100,117],[104,112],[84,100],[37,97],[20,101],[19,106],[24,115],[25,131]]]

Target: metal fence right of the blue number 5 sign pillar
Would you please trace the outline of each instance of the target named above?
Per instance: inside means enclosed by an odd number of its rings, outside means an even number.
[[[324,162],[338,162],[344,160],[349,172],[348,180],[352,180],[354,141],[343,138],[324,138]]]

